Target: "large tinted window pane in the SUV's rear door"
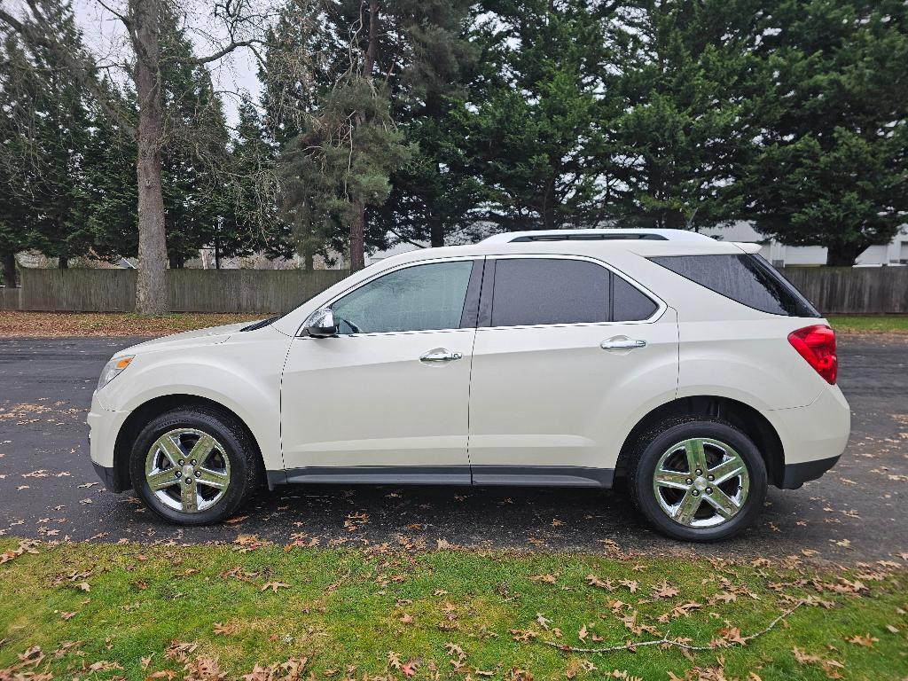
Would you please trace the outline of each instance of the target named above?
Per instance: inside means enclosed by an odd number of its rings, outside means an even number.
[[[491,326],[609,321],[611,272],[593,262],[502,258],[495,264]]]

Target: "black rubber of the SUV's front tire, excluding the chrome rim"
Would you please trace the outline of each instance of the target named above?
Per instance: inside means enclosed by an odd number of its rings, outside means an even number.
[[[192,428],[208,433],[222,444],[224,455],[230,461],[231,479],[226,493],[214,506],[198,513],[182,513],[166,506],[154,495],[145,479],[145,459],[155,440],[166,432],[180,428]],[[218,522],[232,514],[244,497],[245,486],[250,478],[249,462],[247,457],[243,456],[244,444],[233,429],[210,413],[179,410],[163,414],[145,426],[133,443],[130,453],[133,489],[142,498],[145,506],[173,523],[207,525]]]

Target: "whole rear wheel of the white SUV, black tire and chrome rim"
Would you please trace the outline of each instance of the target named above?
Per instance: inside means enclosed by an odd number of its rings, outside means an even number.
[[[668,537],[696,542],[731,538],[763,510],[763,457],[754,442],[727,421],[706,416],[663,421],[638,440],[628,464],[628,486],[637,509]]]

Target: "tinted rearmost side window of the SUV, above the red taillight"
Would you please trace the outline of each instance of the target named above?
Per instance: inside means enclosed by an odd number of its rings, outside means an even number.
[[[820,316],[794,286],[758,255],[668,255],[650,260],[755,310],[788,317]]]

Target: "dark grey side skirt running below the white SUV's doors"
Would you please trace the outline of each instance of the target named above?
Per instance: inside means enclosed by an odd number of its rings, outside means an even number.
[[[597,487],[608,489],[613,469],[583,466],[311,466],[269,470],[268,487],[316,483],[336,485],[478,485]]]

